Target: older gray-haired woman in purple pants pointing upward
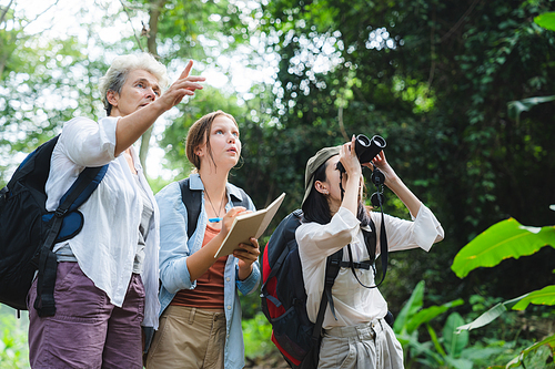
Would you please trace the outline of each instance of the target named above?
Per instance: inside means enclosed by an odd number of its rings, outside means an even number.
[[[32,368],[142,368],[141,326],[158,328],[160,311],[159,214],[132,144],[202,89],[191,69],[192,61],[162,93],[163,64],[147,53],[119,57],[100,81],[108,116],[64,124],[46,185],[49,211],[85,167],[109,166],[80,208],[81,232],[54,246],[56,315],[40,317],[37,286],[29,291]]]

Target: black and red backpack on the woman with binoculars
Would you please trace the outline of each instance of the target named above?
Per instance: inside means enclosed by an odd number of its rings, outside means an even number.
[[[343,249],[327,257],[325,284],[315,324],[306,312],[306,293],[295,230],[301,225],[302,211],[287,215],[275,228],[262,255],[262,311],[272,325],[272,342],[292,368],[312,369],[317,367],[322,322],[327,304],[335,316],[332,287],[342,267],[370,269],[373,263],[343,262]],[[376,246],[375,225],[366,247]],[[382,255],[387,253],[382,244]],[[386,243],[385,243],[385,247]],[[372,255],[373,253],[369,254]],[[387,258],[383,258],[382,263]],[[382,264],[382,268],[384,265]],[[382,269],[382,280],[385,269]],[[354,271],[354,270],[353,270]],[[389,312],[389,316],[391,314]],[[391,316],[393,318],[393,316]]]

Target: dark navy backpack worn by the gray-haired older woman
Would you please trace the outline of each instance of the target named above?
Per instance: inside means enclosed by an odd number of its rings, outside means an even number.
[[[38,270],[33,306],[41,317],[56,314],[57,260],[52,248],[81,230],[83,215],[78,208],[108,171],[108,164],[82,171],[59,207],[47,212],[44,185],[58,139],[29,154],[0,191],[0,303],[27,310],[27,295]]]

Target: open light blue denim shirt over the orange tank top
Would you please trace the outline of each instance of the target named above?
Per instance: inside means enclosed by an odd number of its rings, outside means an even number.
[[[191,189],[204,189],[199,174],[190,176]],[[226,184],[228,204],[225,211],[233,206],[231,196],[242,199],[239,188],[230,183]],[[179,183],[174,182],[165,186],[157,194],[157,203],[160,208],[160,288],[161,312],[170,305],[175,294],[181,289],[193,289],[196,281],[191,281],[186,258],[202,247],[204,232],[206,229],[208,216],[204,209],[204,192],[202,192],[201,214],[196,223],[196,229],[191,236],[186,235],[186,208],[181,199]],[[249,209],[254,211],[254,205],[249,198]],[[241,305],[239,301],[240,290],[243,295],[253,293],[260,283],[260,267],[253,264],[253,270],[245,280],[238,278],[238,258],[233,255],[228,257],[224,270],[223,303],[226,319],[224,368],[234,369],[244,367],[244,344],[241,329]]]

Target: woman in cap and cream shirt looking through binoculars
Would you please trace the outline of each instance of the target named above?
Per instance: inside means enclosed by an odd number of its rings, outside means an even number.
[[[295,237],[307,295],[306,310],[313,322],[324,289],[327,256],[344,248],[344,262],[351,258],[357,265],[373,264],[380,254],[382,229],[387,235],[390,252],[416,247],[427,252],[443,239],[440,222],[396,175],[383,151],[363,165],[372,164],[384,174],[385,185],[403,201],[412,221],[382,217],[366,209],[354,136],[342,146],[322,148],[306,164],[303,223]],[[375,249],[366,248],[372,237],[376,239]],[[341,268],[332,288],[335,314],[327,307],[324,315],[319,368],[403,368],[403,350],[384,320],[387,303],[373,288],[374,277],[373,267]]]

